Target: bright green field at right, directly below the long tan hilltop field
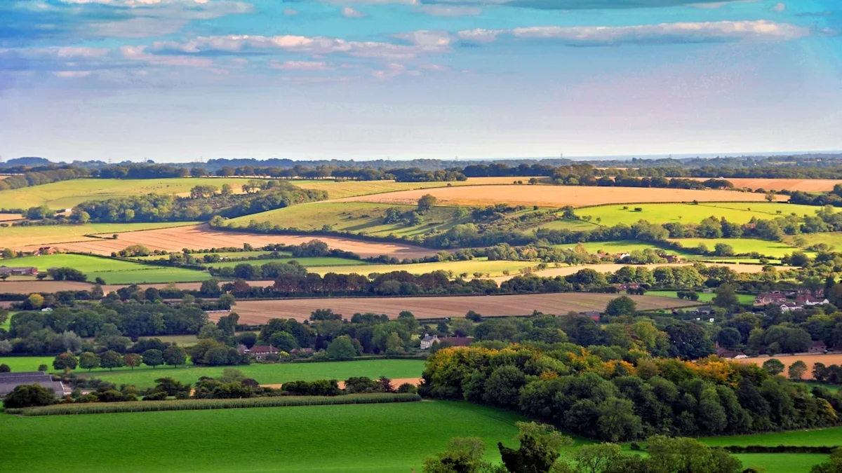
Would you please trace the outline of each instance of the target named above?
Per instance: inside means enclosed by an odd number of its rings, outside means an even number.
[[[623,207],[627,207],[623,210]],[[634,209],[640,207],[642,211]],[[779,204],[769,202],[706,202],[699,205],[692,204],[629,204],[629,205],[600,205],[576,210],[576,215],[590,215],[594,222],[600,219],[600,224],[615,226],[623,223],[632,225],[640,220],[650,223],[699,223],[713,215],[725,217],[734,223],[748,223],[752,217],[770,220],[781,215],[796,213],[797,215],[815,215],[818,207],[813,205]]]

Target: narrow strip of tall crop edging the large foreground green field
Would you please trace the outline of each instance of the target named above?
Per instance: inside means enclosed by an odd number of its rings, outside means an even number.
[[[174,401],[92,402],[56,404],[45,407],[6,409],[7,414],[22,416],[67,416],[74,414],[109,414],[115,412],[195,411],[200,409],[239,409],[244,407],[327,406],[338,404],[377,404],[381,402],[421,401],[417,394],[353,394],[348,396],[278,396],[246,399],[184,399]]]

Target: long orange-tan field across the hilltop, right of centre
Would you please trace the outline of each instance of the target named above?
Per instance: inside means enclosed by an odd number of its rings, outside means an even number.
[[[746,202],[765,201],[765,194],[733,190],[640,189],[623,187],[496,185],[464,186],[436,189],[415,189],[387,194],[360,195],[336,199],[334,202],[377,202],[416,204],[424,194],[439,199],[439,205],[540,205],[563,207],[573,205],[635,204],[658,202]],[[786,201],[786,195],[775,199]]]

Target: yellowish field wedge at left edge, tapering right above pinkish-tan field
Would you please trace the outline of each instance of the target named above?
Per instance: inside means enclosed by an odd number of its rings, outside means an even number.
[[[0,228],[0,248],[28,245],[55,245],[56,243],[91,241],[85,235],[121,233],[124,231],[152,230],[173,226],[195,225],[195,221],[155,223],[88,223],[84,225],[11,226]]]

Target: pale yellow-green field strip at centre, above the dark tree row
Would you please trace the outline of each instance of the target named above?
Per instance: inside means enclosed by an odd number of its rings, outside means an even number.
[[[509,274],[518,274],[521,268],[532,268],[537,264],[538,263],[531,261],[488,261],[486,258],[476,258],[468,261],[438,261],[434,263],[313,266],[311,272],[318,274],[371,274],[389,273],[391,271],[407,271],[411,274],[425,274],[432,271],[452,271],[454,276],[467,274],[468,277],[473,278],[474,273],[482,273],[483,275],[489,274],[492,277],[504,274],[504,271],[509,271]]]

